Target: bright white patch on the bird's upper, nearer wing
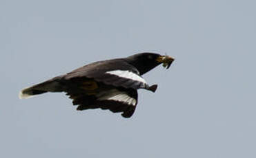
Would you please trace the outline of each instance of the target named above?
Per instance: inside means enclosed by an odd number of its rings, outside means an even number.
[[[147,84],[146,80],[144,78],[141,78],[141,76],[128,71],[128,70],[114,70],[114,71],[107,71],[106,74],[112,74],[115,76],[119,76],[121,78],[128,78],[130,80],[137,80],[139,82],[143,82],[144,84]]]

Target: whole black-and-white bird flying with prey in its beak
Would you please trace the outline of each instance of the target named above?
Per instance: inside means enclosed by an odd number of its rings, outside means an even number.
[[[47,92],[64,92],[77,105],[78,111],[108,109],[129,118],[138,103],[138,89],[155,93],[157,84],[149,85],[142,77],[151,69],[163,64],[168,69],[175,59],[144,52],[126,58],[97,61],[79,67],[67,74],[27,87],[19,98],[31,98]]]

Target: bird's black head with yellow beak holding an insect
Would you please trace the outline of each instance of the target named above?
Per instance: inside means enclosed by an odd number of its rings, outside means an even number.
[[[155,53],[141,53],[128,56],[126,60],[135,66],[139,70],[139,73],[143,75],[159,64],[163,64],[168,69],[175,59],[167,55],[161,56]]]

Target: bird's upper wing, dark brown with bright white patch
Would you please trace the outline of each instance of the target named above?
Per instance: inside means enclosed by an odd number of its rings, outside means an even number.
[[[139,71],[122,59],[105,60],[92,63],[75,69],[63,77],[65,80],[72,78],[92,78],[97,82],[126,89],[149,89],[148,83],[139,76]]]

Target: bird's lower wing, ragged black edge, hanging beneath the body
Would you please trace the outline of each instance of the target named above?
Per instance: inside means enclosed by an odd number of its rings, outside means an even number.
[[[123,112],[123,117],[131,117],[137,105],[137,90],[135,89],[105,89],[99,93],[75,93],[69,91],[67,95],[73,99],[74,105],[79,105],[77,110],[109,109],[113,113]]]

